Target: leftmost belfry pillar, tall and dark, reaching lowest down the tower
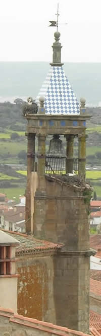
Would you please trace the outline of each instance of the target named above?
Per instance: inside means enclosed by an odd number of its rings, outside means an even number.
[[[27,185],[26,185],[26,233],[31,232],[31,172],[34,168],[35,155],[35,134],[28,133],[28,149],[27,149]]]

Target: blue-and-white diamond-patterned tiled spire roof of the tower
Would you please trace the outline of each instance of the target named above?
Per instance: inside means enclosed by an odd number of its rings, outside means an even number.
[[[79,103],[66,77],[63,67],[52,66],[40,89],[39,97],[44,96],[45,113],[48,115],[79,115]]]

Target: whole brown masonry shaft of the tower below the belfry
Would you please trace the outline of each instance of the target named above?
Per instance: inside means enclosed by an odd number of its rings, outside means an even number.
[[[34,234],[64,246],[53,257],[56,324],[88,333],[89,198],[84,194],[82,187],[46,179],[46,196],[35,196]]]

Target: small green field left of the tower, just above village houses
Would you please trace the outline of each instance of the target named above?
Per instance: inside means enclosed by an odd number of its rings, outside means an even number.
[[[19,197],[25,193],[25,188],[0,188],[0,193],[6,194],[9,199],[19,201]]]

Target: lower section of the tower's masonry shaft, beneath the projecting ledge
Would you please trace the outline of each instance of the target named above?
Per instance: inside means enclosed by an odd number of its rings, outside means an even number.
[[[85,251],[54,256],[56,324],[84,333],[89,333],[89,256]]]

